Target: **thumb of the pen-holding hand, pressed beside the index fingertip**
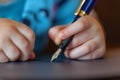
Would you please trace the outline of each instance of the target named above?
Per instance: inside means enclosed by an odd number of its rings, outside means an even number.
[[[49,30],[49,37],[55,42],[56,45],[61,43],[61,38],[58,37],[58,34],[63,30],[65,26],[56,26]]]

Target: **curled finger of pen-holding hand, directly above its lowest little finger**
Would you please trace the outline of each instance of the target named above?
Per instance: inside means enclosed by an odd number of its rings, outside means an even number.
[[[91,39],[88,42],[84,43],[83,45],[80,45],[74,49],[66,50],[65,55],[68,58],[78,59],[81,56],[87,55],[97,49],[98,42],[95,39]]]

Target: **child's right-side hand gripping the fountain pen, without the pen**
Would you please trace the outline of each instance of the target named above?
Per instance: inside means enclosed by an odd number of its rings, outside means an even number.
[[[72,35],[73,40],[65,50],[67,58],[86,60],[104,55],[106,45],[102,26],[93,17],[84,16],[70,25],[57,26],[49,31],[57,45]]]

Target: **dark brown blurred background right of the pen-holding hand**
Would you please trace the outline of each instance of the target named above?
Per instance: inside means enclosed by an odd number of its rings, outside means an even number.
[[[95,10],[104,25],[107,45],[120,45],[120,0],[97,0]]]

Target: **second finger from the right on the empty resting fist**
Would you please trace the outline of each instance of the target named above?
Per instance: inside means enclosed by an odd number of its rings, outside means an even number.
[[[33,46],[31,47],[31,43],[28,39],[20,32],[16,31],[15,34],[11,36],[11,40],[21,52],[20,60],[28,60],[33,51]]]

